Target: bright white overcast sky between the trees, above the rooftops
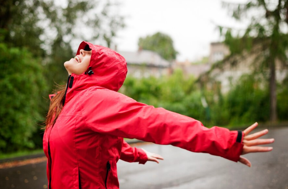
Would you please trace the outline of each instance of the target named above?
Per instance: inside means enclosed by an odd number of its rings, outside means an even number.
[[[244,28],[222,8],[220,0],[119,0],[126,28],[116,39],[117,49],[136,51],[139,37],[158,31],[168,34],[179,52],[178,61],[193,61],[209,54],[210,42],[220,40],[216,25]],[[227,2],[227,1],[226,1]],[[246,2],[229,0],[229,2]]]

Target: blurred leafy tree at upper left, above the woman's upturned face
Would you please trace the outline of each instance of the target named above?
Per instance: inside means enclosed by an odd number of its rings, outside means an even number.
[[[14,47],[26,47],[44,57],[49,84],[63,81],[63,63],[73,57],[73,41],[97,41],[110,47],[123,28],[115,1],[0,0],[0,37]],[[5,19],[4,19],[5,18]],[[78,45],[78,44],[77,44]]]

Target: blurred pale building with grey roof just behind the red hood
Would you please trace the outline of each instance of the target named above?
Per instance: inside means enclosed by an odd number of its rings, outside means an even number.
[[[158,53],[139,49],[137,52],[117,51],[127,62],[128,76],[160,77],[171,73],[171,62],[163,59]]]

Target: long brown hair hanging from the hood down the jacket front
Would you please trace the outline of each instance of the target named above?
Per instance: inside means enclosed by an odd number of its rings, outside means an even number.
[[[52,98],[49,106],[49,111],[46,116],[45,129],[53,126],[62,111],[63,100],[65,96],[66,85],[58,85],[58,88],[54,91],[55,96]]]

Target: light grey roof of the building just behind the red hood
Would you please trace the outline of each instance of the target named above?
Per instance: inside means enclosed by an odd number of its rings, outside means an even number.
[[[163,59],[158,53],[149,50],[139,50],[137,52],[118,51],[127,64],[147,65],[153,67],[170,67],[170,63]]]

